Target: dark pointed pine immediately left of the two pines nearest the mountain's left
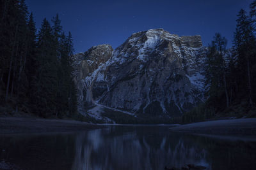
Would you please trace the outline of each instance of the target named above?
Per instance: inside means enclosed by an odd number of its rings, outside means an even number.
[[[48,117],[56,111],[57,91],[57,58],[54,48],[52,28],[46,18],[38,32],[37,42],[37,73],[34,80],[34,95],[37,113]]]

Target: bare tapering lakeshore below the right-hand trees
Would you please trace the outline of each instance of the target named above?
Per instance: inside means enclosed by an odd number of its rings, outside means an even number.
[[[256,136],[256,118],[211,120],[171,127],[172,132]]]

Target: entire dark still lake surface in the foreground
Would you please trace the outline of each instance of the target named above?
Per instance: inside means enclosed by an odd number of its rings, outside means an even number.
[[[109,126],[68,134],[0,136],[0,169],[256,169],[256,142]]]

